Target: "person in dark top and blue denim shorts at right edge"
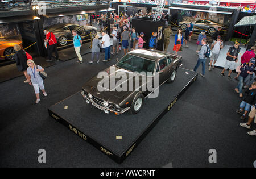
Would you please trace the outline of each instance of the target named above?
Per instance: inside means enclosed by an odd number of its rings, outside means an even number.
[[[243,112],[243,109],[245,110],[245,113],[241,116],[240,119],[245,119],[246,114],[250,110],[251,105],[254,106],[256,103],[256,82],[253,82],[251,85],[251,88],[245,90],[245,98],[240,104],[240,109],[236,111],[237,114],[241,114]]]

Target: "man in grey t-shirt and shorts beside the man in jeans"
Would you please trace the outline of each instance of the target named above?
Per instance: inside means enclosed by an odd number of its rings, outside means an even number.
[[[212,49],[212,56],[210,57],[210,66],[209,71],[214,68],[216,61],[218,60],[218,56],[220,55],[220,50],[223,48],[223,42],[221,41],[221,36],[217,37],[217,40],[213,40],[211,49]],[[213,61],[213,65],[212,65]]]

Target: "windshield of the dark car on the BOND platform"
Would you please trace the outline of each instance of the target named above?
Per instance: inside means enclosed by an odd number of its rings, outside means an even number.
[[[155,70],[155,61],[126,54],[122,57],[121,60],[118,61],[115,66],[117,66],[118,68],[129,70],[131,72],[145,72],[148,76],[152,76]]]

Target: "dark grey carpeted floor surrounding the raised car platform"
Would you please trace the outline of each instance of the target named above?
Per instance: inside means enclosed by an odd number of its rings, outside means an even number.
[[[189,42],[189,48],[180,52],[183,68],[196,64],[195,43]],[[121,165],[115,163],[48,115],[49,106],[81,90],[86,80],[116,59],[89,64],[90,54],[83,57],[82,64],[73,59],[46,68],[48,97],[41,97],[38,105],[24,77],[0,84],[0,166],[162,167],[171,163],[173,167],[253,167],[256,138],[239,126],[237,81],[221,77],[218,68],[212,72],[207,68],[205,78],[199,76],[134,152]],[[38,163],[41,148],[46,150],[46,164]],[[217,151],[215,164],[208,161],[210,149]]]

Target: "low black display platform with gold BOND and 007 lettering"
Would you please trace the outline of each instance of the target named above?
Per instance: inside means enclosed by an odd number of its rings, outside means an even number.
[[[141,111],[135,115],[105,114],[88,105],[81,91],[49,107],[48,111],[52,118],[81,139],[117,163],[122,163],[196,78],[196,72],[179,68],[175,81],[160,86],[158,98],[146,98]],[[65,106],[67,109],[64,109]],[[122,139],[117,139],[117,136],[122,136]]]

